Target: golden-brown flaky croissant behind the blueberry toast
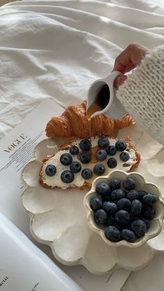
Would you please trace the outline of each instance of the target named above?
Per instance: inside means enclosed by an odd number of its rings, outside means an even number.
[[[126,115],[122,119],[110,119],[105,115],[97,115],[91,119],[91,135],[93,137],[108,135],[115,137],[119,129],[133,125],[133,119]],[[46,126],[49,138],[87,138],[89,123],[86,117],[86,100],[80,105],[69,106],[59,117],[52,117]]]

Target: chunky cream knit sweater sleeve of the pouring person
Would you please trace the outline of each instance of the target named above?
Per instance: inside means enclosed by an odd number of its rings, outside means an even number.
[[[164,46],[151,51],[129,74],[117,98],[146,133],[164,144]]]

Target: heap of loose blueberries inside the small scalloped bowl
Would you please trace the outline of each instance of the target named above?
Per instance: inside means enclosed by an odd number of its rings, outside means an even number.
[[[156,195],[135,188],[136,181],[130,177],[123,182],[100,182],[96,185],[97,197],[90,199],[95,223],[112,242],[135,242],[145,235],[154,218]]]

